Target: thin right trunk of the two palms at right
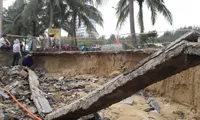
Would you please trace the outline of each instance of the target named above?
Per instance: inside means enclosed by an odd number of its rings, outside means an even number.
[[[139,2],[139,8],[140,33],[144,33],[143,2]]]

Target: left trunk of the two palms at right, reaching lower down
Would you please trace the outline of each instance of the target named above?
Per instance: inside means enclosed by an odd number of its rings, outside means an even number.
[[[134,20],[134,2],[129,0],[129,10],[130,10],[130,30],[133,46],[136,47],[136,34],[135,34],[135,20]]]

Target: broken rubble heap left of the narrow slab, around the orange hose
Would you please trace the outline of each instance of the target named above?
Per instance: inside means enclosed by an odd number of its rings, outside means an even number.
[[[19,107],[18,104],[4,91],[7,89],[15,98],[32,113],[37,114],[37,109],[31,101],[29,82],[22,74],[20,66],[0,68],[0,119],[29,120],[31,117]]]

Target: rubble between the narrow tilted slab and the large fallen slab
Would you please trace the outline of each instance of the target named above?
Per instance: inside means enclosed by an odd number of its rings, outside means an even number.
[[[100,86],[97,84],[99,79],[96,78],[41,76],[39,80],[40,89],[46,93],[47,99],[54,109],[68,105]]]

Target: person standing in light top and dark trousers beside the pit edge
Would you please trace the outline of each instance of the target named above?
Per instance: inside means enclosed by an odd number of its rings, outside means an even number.
[[[18,65],[19,58],[22,56],[21,50],[20,50],[20,42],[18,39],[14,41],[13,45],[13,63],[12,66]]]

